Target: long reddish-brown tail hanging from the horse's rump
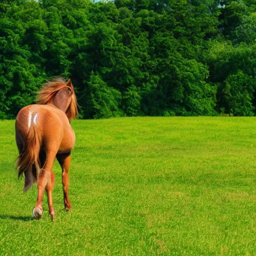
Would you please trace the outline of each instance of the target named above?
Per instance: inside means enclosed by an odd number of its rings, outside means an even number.
[[[35,182],[40,172],[39,152],[42,143],[42,133],[35,123],[31,122],[23,141],[22,151],[16,160],[16,169],[18,170],[18,177],[22,173],[25,175],[23,190],[26,191]]]

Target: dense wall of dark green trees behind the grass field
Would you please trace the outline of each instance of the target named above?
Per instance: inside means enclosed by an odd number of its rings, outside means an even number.
[[[255,115],[253,0],[1,0],[0,118],[51,76],[84,118]]]

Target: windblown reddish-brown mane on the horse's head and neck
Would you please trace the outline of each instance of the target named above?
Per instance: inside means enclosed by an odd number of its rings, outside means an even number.
[[[55,77],[43,84],[37,93],[37,104],[51,104],[56,93],[63,88],[69,88],[71,91],[71,102],[66,110],[66,116],[71,121],[78,117],[77,101],[74,94],[74,87],[69,79],[67,82],[62,77]]]

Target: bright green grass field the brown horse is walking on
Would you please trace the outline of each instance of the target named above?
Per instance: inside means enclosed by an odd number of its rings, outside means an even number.
[[[255,255],[255,117],[74,120],[69,197],[22,192],[14,121],[0,121],[0,255]]]

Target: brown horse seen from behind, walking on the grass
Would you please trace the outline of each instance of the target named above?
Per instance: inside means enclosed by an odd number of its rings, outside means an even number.
[[[65,82],[55,78],[44,84],[38,92],[37,104],[23,107],[17,114],[15,137],[19,155],[16,161],[18,177],[24,173],[23,191],[36,182],[37,201],[33,215],[39,219],[42,215],[42,198],[47,192],[49,214],[54,221],[52,190],[55,176],[52,166],[55,157],[62,168],[64,206],[70,210],[68,199],[68,171],[70,152],[75,142],[75,135],[70,121],[77,117],[77,102],[71,79]]]

